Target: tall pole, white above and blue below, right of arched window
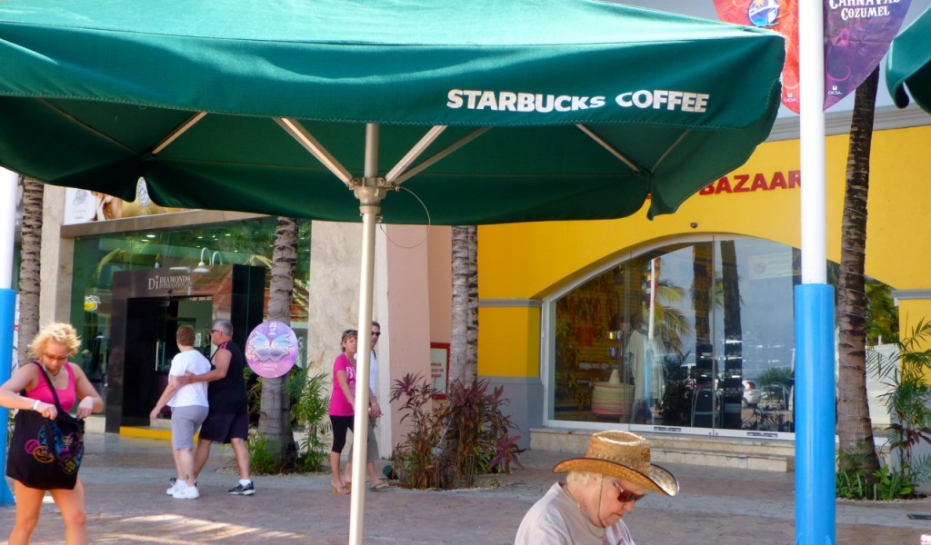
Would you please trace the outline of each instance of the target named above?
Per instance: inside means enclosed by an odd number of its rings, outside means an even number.
[[[827,285],[824,6],[799,2],[802,285],[795,287],[795,543],[833,545],[834,290]]]

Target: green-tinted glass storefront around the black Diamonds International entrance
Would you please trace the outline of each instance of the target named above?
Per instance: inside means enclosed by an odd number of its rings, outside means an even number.
[[[270,218],[75,239],[71,315],[83,340],[82,364],[88,378],[98,387],[105,386],[114,272],[155,268],[167,272],[196,272],[198,268],[214,264],[271,269],[276,228],[277,219]],[[290,324],[302,346],[307,333],[309,239],[310,222],[305,221],[299,233]],[[270,281],[271,274],[266,273],[266,309]],[[197,307],[193,299],[187,304],[192,309]],[[205,339],[203,344],[207,346],[209,341]]]

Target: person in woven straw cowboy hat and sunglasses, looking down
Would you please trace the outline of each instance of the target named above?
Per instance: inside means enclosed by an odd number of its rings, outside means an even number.
[[[679,492],[672,473],[650,463],[647,440],[630,432],[592,434],[585,458],[562,460],[553,472],[567,472],[566,480],[524,515],[516,545],[634,545],[621,518],[648,492]]]

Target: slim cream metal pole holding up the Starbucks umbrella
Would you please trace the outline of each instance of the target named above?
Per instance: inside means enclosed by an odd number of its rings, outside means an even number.
[[[371,362],[371,299],[375,272],[375,222],[385,197],[385,179],[378,178],[378,130],[365,131],[365,177],[353,179],[353,191],[362,214],[362,265],[358,298],[358,352],[356,364],[356,416],[353,420],[352,502],[349,543],[361,545],[365,519],[365,470],[369,443],[369,371]],[[374,485],[374,483],[372,483]]]

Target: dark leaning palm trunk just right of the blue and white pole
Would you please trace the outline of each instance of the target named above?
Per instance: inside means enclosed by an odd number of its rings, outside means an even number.
[[[870,189],[870,145],[876,106],[879,68],[858,88],[850,122],[846,192],[841,227],[841,272],[837,315],[840,327],[840,369],[837,383],[837,434],[844,470],[862,470],[869,476],[879,469],[873,445],[866,387],[866,258],[867,195]],[[824,362],[827,365],[827,362]],[[857,464],[858,467],[843,467]]]

